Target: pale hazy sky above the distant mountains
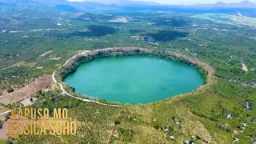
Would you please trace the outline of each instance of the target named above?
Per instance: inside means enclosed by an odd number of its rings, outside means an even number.
[[[82,2],[83,0],[68,0],[70,2]],[[84,0],[84,1],[90,1],[90,2],[102,2],[102,3],[115,3],[117,1],[122,0]],[[162,4],[201,4],[201,3],[215,3],[215,2],[241,2],[243,0],[136,0],[136,1],[148,1],[148,2],[158,2]],[[250,0],[250,2],[256,3],[256,0]]]

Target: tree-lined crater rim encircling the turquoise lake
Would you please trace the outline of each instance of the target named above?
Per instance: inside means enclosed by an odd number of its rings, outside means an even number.
[[[111,58],[111,57],[122,57],[122,56],[135,56],[135,55],[149,55],[154,56],[158,58],[168,58],[170,60],[176,61],[176,62],[182,62],[186,63],[191,66],[195,66],[199,72],[203,75],[205,79],[205,84],[203,86],[200,86],[195,91],[201,91],[205,89],[206,86],[212,84],[214,82],[214,69],[209,66],[208,64],[195,59],[195,58],[188,58],[186,55],[174,53],[171,51],[166,50],[151,50],[151,49],[145,49],[145,48],[138,48],[138,47],[114,47],[114,48],[106,48],[106,49],[100,49],[100,50],[86,50],[85,52],[82,52],[80,54],[75,55],[74,57],[70,58],[66,61],[64,65],[59,67],[58,70],[56,70],[56,82],[60,82],[66,89],[67,94],[75,95],[75,97],[78,98],[86,98],[86,96],[78,94],[70,89],[70,86],[68,86],[63,80],[69,75],[74,73],[77,68],[85,62],[91,62],[94,59],[98,58]],[[190,93],[187,93],[190,94]],[[179,95],[186,95],[186,94],[178,94]],[[158,102],[166,101],[169,99],[177,99],[177,96],[174,96],[172,98],[166,98]],[[88,98],[91,99],[91,98]],[[95,99],[94,99],[95,100]],[[109,104],[118,104],[118,105],[126,105],[126,104],[120,104],[118,102],[106,102],[102,99],[96,99],[98,102],[104,102]],[[148,104],[143,105],[149,105],[154,104],[158,102],[152,102]]]

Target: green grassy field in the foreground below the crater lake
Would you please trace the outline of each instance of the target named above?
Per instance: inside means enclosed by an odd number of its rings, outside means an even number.
[[[48,107],[50,110],[55,106],[68,107],[70,118],[79,123],[78,134],[68,137],[22,136],[14,142],[49,142],[50,138],[51,142],[62,143],[177,143],[186,140],[196,143],[232,143],[234,138],[239,138],[241,143],[250,143],[250,138],[255,138],[256,113],[254,106],[251,110],[245,110],[244,107],[246,102],[256,102],[255,90],[241,89],[237,84],[226,86],[227,82],[219,78],[216,81],[203,90],[178,98],[122,108],[55,97],[54,100],[49,99],[34,106]],[[236,90],[237,94],[229,94],[227,90]],[[232,118],[226,118],[227,114],[231,114]],[[246,123],[245,129],[242,128],[243,123]],[[234,135],[234,130],[238,130],[239,134]],[[114,131],[118,134],[114,134]]]

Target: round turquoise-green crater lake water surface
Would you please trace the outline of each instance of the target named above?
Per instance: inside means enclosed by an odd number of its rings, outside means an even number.
[[[65,82],[80,94],[109,102],[146,104],[203,85],[194,66],[156,57],[100,58],[87,62]]]

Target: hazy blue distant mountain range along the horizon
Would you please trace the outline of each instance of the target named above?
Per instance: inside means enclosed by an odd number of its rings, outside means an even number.
[[[133,0],[86,0],[84,2],[69,2],[67,0],[0,0],[0,6],[1,5],[12,5],[12,6],[22,6],[22,3],[24,6],[28,6],[30,4],[36,5],[40,4],[44,6],[57,6],[58,9],[61,10],[83,10],[88,7],[95,8],[95,7],[143,7],[143,6],[166,6],[161,5],[158,2],[142,2],[142,1],[133,1]],[[171,6],[171,5],[170,5]],[[188,7],[203,7],[203,8],[214,8],[214,7],[222,7],[222,8],[256,8],[256,4],[249,2],[249,1],[243,1],[238,3],[225,3],[225,2],[216,2],[214,4],[196,4],[196,5],[182,5],[182,6],[188,6]]]

